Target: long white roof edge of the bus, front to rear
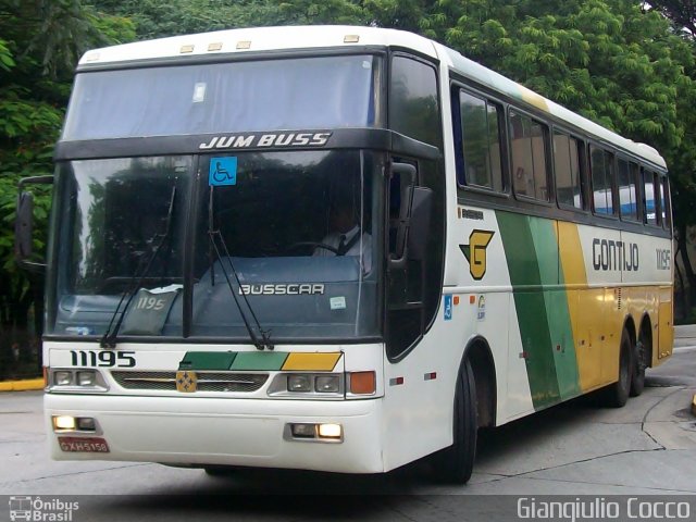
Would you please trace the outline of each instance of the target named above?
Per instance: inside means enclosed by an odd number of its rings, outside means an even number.
[[[667,169],[652,147],[632,141],[527,89],[460,52],[413,33],[377,27],[312,25],[256,27],[217,30],[197,35],[174,36],[137,41],[87,51],[80,66],[117,64],[142,60],[166,60],[176,57],[241,54],[252,51],[346,48],[355,46],[402,47],[421,54],[439,58],[462,76],[542,110],[570,126],[609,145],[613,145],[656,166]]]

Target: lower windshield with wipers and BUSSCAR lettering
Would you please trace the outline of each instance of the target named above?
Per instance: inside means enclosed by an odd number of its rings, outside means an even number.
[[[274,340],[377,335],[378,158],[61,163],[48,333],[102,335],[123,315],[120,336],[244,341],[253,316]]]

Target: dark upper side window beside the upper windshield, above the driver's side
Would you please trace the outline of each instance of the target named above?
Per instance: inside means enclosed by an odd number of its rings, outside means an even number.
[[[439,147],[442,129],[434,67],[406,57],[391,60],[389,126],[420,141]]]

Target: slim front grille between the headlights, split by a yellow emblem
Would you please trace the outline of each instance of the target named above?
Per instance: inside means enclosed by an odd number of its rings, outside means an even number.
[[[176,391],[176,372],[111,372],[126,389]],[[198,391],[256,391],[269,380],[268,373],[197,372]]]

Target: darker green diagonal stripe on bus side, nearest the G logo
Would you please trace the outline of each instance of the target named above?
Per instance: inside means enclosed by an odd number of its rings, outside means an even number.
[[[542,291],[539,257],[535,249],[530,217],[509,212],[496,212],[496,215],[508,261],[522,349],[526,353],[532,402],[538,410],[560,399],[548,312]],[[543,233],[538,234],[539,226],[535,224],[535,229],[537,235],[543,236]],[[542,249],[548,246],[548,243],[542,239],[538,239],[538,243]],[[548,277],[548,274],[545,273],[544,277]]]

